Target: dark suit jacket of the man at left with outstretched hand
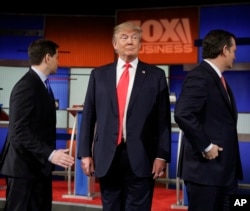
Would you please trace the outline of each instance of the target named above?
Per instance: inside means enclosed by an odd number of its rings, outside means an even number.
[[[0,173],[19,178],[47,176],[55,148],[55,103],[39,76],[29,70],[10,96],[8,137],[2,152]]]

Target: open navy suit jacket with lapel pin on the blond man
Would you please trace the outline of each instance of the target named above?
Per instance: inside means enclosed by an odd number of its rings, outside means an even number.
[[[132,169],[137,176],[151,176],[156,157],[170,161],[170,103],[162,69],[139,61],[126,124]],[[92,156],[93,145],[97,177],[110,167],[117,135],[116,63],[112,63],[91,72],[80,128],[78,158]]]

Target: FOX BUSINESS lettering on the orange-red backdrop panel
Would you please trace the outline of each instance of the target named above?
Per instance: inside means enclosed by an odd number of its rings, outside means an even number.
[[[179,54],[193,51],[191,24],[188,18],[149,19],[144,22],[133,20],[133,22],[141,25],[143,30],[140,53]]]

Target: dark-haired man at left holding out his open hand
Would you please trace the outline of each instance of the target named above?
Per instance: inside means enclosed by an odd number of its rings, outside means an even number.
[[[31,64],[10,96],[9,128],[1,156],[6,176],[5,211],[50,211],[54,164],[67,168],[74,158],[56,146],[56,108],[45,80],[58,66],[58,45],[35,40],[28,48]]]

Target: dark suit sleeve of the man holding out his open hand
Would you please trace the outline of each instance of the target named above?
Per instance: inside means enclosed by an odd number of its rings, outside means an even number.
[[[39,113],[37,105],[44,100],[32,85],[31,81],[21,81],[11,94],[11,127],[13,135],[20,145],[20,150],[25,149],[41,163],[45,163],[54,146],[49,146],[50,141],[41,140],[39,134],[46,134],[43,125],[46,125],[46,114]],[[39,102],[38,102],[39,101]],[[43,117],[42,117],[43,116]],[[45,119],[43,119],[45,118]],[[50,137],[47,137],[50,139]],[[54,140],[51,141],[54,143]]]

